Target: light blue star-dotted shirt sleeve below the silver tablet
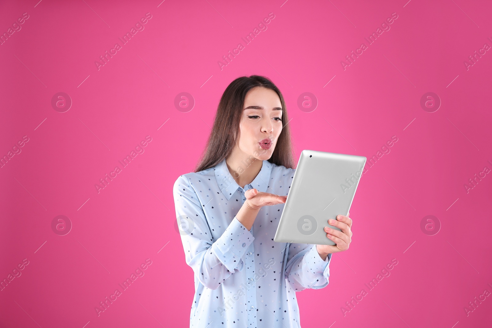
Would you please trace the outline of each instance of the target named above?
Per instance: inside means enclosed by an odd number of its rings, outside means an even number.
[[[289,243],[285,278],[296,292],[324,288],[329,282],[331,258],[330,253],[323,261],[314,244]]]

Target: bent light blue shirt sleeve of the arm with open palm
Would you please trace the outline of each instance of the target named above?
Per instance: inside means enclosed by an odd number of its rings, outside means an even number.
[[[174,183],[173,196],[186,264],[202,285],[217,289],[231,274],[245,268],[242,258],[254,237],[234,216],[214,241],[203,206],[185,175]]]

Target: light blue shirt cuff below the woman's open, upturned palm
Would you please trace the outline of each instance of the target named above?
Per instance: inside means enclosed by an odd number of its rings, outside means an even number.
[[[253,240],[254,236],[251,232],[234,216],[234,219],[232,219],[222,236],[212,244],[211,249],[218,260],[230,272],[234,272],[234,269],[240,264],[241,258]]]

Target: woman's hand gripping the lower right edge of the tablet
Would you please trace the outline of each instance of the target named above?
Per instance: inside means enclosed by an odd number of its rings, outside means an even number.
[[[347,213],[349,215],[350,213]],[[333,221],[333,223],[332,223]],[[323,255],[330,253],[337,253],[348,249],[350,242],[352,241],[352,219],[345,215],[337,215],[337,220],[328,220],[328,223],[332,226],[340,228],[341,231],[325,227],[326,237],[337,243],[336,245],[316,245],[316,249],[322,258]]]

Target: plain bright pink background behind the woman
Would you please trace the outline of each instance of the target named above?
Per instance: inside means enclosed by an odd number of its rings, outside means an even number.
[[[251,74],[283,92],[296,160],[313,149],[369,161],[398,138],[366,165],[352,243],[333,256],[330,284],[297,294],[303,327],[491,325],[492,297],[468,302],[492,292],[492,174],[464,187],[492,169],[492,53],[464,64],[492,46],[490,1],[34,0],[0,9],[1,33],[29,15],[0,45],[0,155],[29,138],[0,169],[0,279],[29,261],[0,291],[1,327],[188,326],[193,271],[172,185],[193,170],[224,89]],[[98,70],[146,13],[144,30]],[[245,45],[269,13],[267,30]],[[390,30],[368,45],[392,13]],[[58,92],[73,102],[64,113],[51,105]],[[181,92],[191,110],[175,107]],[[298,107],[303,92],[316,97],[314,111]],[[426,92],[442,102],[433,113],[420,105]],[[146,136],[145,151],[98,193]],[[72,224],[64,236],[51,226],[58,215]],[[421,229],[427,215],[441,226],[432,236]],[[146,259],[144,276],[98,316],[95,306]],[[368,291],[392,259],[391,275]],[[363,288],[368,295],[346,307]]]

